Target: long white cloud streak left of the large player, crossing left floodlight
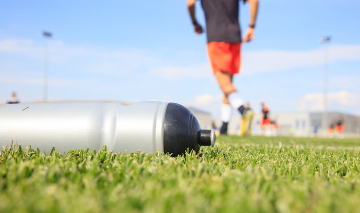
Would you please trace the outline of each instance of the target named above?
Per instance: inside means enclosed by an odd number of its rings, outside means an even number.
[[[51,64],[67,64],[78,71],[104,75],[123,76],[140,71],[146,75],[172,78],[203,78],[211,75],[207,64],[173,66],[171,62],[157,56],[155,52],[143,49],[105,49],[99,47],[76,47],[62,41],[49,42],[49,61]],[[44,47],[31,40],[0,40],[0,54],[15,54],[25,58],[43,60]],[[1,59],[0,59],[1,63]],[[5,61],[2,61],[5,63]],[[184,66],[185,65],[185,66]]]

